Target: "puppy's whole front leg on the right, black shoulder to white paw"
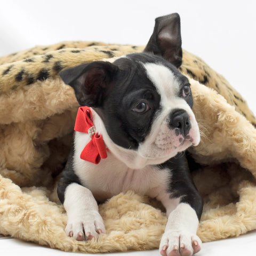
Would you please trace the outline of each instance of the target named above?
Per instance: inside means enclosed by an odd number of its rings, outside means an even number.
[[[163,256],[193,255],[201,250],[202,242],[196,231],[203,199],[191,179],[183,154],[170,159],[162,167],[170,171],[170,183],[169,188],[157,197],[165,206],[168,218],[159,251]]]

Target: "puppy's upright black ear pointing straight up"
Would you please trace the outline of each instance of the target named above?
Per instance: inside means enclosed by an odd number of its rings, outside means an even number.
[[[178,13],[155,19],[155,28],[144,52],[161,55],[177,68],[181,66],[182,49]]]

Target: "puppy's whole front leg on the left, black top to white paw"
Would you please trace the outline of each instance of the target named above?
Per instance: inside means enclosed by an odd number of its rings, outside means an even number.
[[[106,233],[106,230],[91,191],[80,185],[74,172],[73,154],[71,150],[58,184],[58,196],[68,215],[65,229],[67,235],[84,241],[98,237],[99,234]]]

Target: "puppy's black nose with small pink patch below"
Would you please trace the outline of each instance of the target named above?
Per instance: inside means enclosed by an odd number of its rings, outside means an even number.
[[[184,109],[174,109],[170,114],[170,128],[177,129],[177,136],[182,134],[183,137],[188,135],[191,129],[191,123],[188,113]]]

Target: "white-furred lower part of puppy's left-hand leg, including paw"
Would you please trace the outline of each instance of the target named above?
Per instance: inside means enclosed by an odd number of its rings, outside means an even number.
[[[66,188],[63,205],[68,215],[65,229],[68,236],[84,241],[106,233],[98,204],[89,189],[71,183]]]

